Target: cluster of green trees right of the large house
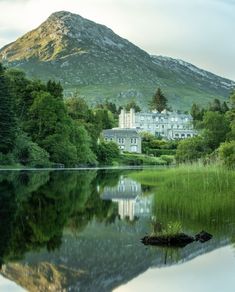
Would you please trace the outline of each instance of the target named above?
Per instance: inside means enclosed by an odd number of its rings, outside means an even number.
[[[207,108],[193,104],[191,108],[198,136],[179,142],[178,162],[203,158],[205,163],[221,160],[228,167],[235,166],[235,91],[229,102],[215,99]]]

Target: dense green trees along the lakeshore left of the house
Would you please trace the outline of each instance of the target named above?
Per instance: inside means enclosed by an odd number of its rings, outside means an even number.
[[[74,167],[110,163],[114,143],[99,141],[117,124],[115,105],[95,109],[77,95],[63,99],[60,83],[29,80],[0,64],[0,165]]]

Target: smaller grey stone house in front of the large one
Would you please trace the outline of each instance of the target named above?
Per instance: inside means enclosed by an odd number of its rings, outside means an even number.
[[[117,143],[122,152],[141,153],[141,136],[134,128],[113,128],[103,130],[102,134],[105,141]]]

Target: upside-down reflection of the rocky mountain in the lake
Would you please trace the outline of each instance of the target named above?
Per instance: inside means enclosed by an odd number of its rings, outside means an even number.
[[[150,267],[182,263],[226,244],[213,240],[178,251],[146,249],[139,243],[142,224],[136,225],[116,222],[106,228],[93,222],[79,238],[65,234],[60,250],[28,254],[20,265],[7,267],[4,275],[27,289],[34,283],[38,291],[47,291],[48,286],[56,287],[52,291],[112,291]]]

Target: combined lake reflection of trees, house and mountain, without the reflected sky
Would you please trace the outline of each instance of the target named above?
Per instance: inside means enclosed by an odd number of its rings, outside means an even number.
[[[169,201],[156,205],[156,195],[128,170],[2,173],[1,274],[29,291],[111,291],[150,267],[184,263],[229,244],[231,220],[208,244],[146,249],[140,238],[152,215],[187,220],[181,206],[170,213]]]

